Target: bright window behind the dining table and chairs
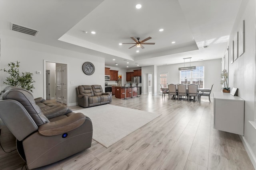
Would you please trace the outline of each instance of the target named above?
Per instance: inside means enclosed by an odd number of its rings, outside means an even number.
[[[204,88],[204,66],[196,67],[192,71],[180,71],[181,84],[198,84],[199,88]]]

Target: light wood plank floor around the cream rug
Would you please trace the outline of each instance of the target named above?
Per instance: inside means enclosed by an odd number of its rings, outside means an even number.
[[[192,102],[141,95],[128,100],[113,97],[111,104],[162,115],[108,149],[92,141],[89,149],[38,169],[254,170],[239,136],[213,129],[213,105],[207,98]],[[3,147],[15,149],[14,138],[1,126]],[[6,154],[0,149],[1,170],[20,170],[23,164],[16,151]]]

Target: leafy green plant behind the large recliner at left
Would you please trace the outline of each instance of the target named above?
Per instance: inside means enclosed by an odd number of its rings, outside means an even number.
[[[29,90],[31,92],[32,89],[34,89],[34,80],[32,78],[32,73],[31,72],[22,72],[22,75],[20,75],[20,62],[16,61],[15,62],[10,62],[8,63],[8,67],[10,67],[8,70],[5,68],[3,69],[4,72],[7,72],[10,74],[9,77],[4,80],[4,84],[8,84],[11,86],[16,86],[16,87],[21,87],[26,90]],[[1,69],[2,70],[2,69]]]

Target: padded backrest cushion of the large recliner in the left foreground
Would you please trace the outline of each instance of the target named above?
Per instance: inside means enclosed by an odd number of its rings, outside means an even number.
[[[41,109],[36,105],[33,95],[25,89],[7,90],[3,94],[3,100],[17,100],[28,111],[36,125],[39,127],[44,123],[50,122],[41,112]]]

